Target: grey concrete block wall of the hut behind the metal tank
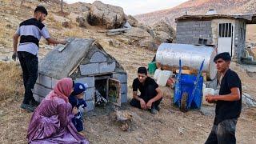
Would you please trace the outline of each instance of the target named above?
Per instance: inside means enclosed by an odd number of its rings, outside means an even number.
[[[211,21],[180,21],[176,31],[177,43],[198,44],[198,38],[212,42]]]

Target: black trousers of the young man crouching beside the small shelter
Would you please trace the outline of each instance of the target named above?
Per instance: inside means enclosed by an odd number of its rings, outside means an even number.
[[[154,86],[147,86],[146,87],[146,90],[145,90],[145,94],[141,94],[139,96],[139,98],[142,98],[146,103],[150,101],[150,99],[154,98],[155,96],[157,96],[157,91],[155,90]],[[162,101],[162,98],[159,99],[158,101],[156,102],[153,102],[152,103],[152,106],[151,108],[153,108],[153,106],[158,106],[160,104],[160,102]],[[141,104],[140,102],[133,98],[131,101],[130,101],[130,105],[131,106],[134,106],[134,107],[138,107],[139,109],[141,109]]]

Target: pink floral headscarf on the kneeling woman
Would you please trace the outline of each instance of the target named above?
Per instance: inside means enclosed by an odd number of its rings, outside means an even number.
[[[69,96],[72,93],[73,81],[71,78],[62,78],[54,86],[54,90],[46,97],[53,99],[55,97],[62,98],[65,102],[69,102]]]

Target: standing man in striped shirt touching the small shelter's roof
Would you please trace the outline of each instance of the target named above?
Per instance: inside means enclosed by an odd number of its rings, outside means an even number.
[[[66,44],[66,41],[57,41],[54,38],[50,38],[46,26],[42,24],[47,14],[45,7],[37,6],[34,10],[34,18],[20,23],[18,30],[14,34],[14,54],[12,58],[16,61],[18,56],[22,66],[25,87],[21,108],[30,112],[34,111],[34,106],[38,105],[38,102],[34,100],[32,89],[34,89],[34,84],[38,78],[38,49],[41,37],[46,38],[47,42],[52,44]],[[18,37],[20,37],[19,45]]]

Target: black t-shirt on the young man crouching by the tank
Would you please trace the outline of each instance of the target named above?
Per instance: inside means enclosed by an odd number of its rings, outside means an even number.
[[[150,86],[150,85],[154,86],[154,89],[158,88],[158,84],[156,82],[154,82],[153,78],[147,77],[144,82],[144,85],[143,85],[143,83],[139,82],[138,78],[135,78],[134,82],[133,82],[133,91],[139,90],[141,92],[141,95],[144,95],[146,87]]]

